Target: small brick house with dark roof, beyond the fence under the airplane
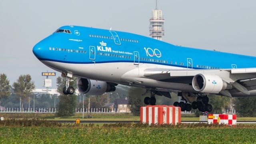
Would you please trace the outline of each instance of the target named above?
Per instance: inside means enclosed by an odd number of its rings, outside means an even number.
[[[128,102],[127,98],[117,98],[114,102],[114,109],[116,109],[116,112],[131,112]]]

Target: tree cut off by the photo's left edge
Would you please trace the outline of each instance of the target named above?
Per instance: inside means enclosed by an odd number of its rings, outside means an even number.
[[[6,74],[0,74],[0,100],[3,97],[9,97],[11,95],[11,86],[9,83],[10,81],[7,79]]]

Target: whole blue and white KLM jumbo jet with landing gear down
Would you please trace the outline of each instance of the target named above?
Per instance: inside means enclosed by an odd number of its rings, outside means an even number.
[[[157,34],[157,33],[156,33]],[[256,57],[176,46],[160,40],[83,26],[62,26],[38,42],[33,53],[46,66],[66,78],[64,94],[76,76],[79,92],[102,95],[118,84],[146,89],[145,104],[155,95],[171,98],[182,111],[211,112],[209,94],[256,96]]]

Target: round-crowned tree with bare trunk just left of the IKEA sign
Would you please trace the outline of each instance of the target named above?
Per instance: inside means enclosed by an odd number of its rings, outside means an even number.
[[[20,75],[18,80],[12,84],[14,94],[20,97],[20,109],[23,109],[23,104],[29,96],[32,95],[32,90],[35,88],[35,84],[29,74]]]

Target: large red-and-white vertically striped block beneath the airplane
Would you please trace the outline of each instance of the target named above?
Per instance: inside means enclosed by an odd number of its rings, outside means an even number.
[[[142,106],[140,122],[144,124],[178,124],[181,122],[181,109],[176,106]]]

